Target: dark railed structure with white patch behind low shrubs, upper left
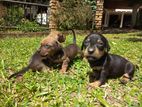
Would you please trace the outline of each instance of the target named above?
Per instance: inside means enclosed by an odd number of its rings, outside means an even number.
[[[44,25],[48,21],[46,18],[49,14],[49,0],[1,0],[0,18],[7,14],[8,9],[17,9],[19,7],[23,9],[23,17],[26,19],[37,20],[38,23]]]

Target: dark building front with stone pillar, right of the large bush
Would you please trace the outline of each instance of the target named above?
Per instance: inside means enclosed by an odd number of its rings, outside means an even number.
[[[142,25],[142,4],[132,0],[96,0],[95,24],[101,28],[133,28]]]

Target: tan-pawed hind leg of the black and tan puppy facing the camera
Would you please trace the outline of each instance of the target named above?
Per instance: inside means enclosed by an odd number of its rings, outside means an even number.
[[[131,62],[128,62],[125,66],[125,72],[123,76],[121,77],[121,83],[126,84],[128,81],[130,81],[134,75],[134,65]]]

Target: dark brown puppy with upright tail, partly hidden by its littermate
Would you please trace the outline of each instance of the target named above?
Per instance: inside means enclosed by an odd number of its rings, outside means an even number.
[[[60,73],[66,73],[68,65],[78,54],[81,54],[81,49],[76,44],[76,36],[73,32],[73,43],[69,44],[65,48],[61,48],[58,53],[54,56],[54,63],[62,64]]]

